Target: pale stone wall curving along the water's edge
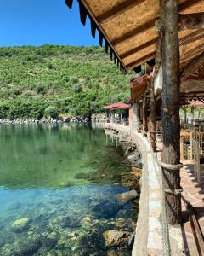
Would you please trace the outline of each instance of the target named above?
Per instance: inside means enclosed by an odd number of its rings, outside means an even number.
[[[135,113],[137,108],[133,107]],[[133,114],[134,114],[133,113]],[[136,120],[137,121],[137,120]],[[135,127],[135,121],[134,121]],[[146,137],[132,130],[131,126],[105,124],[105,129],[111,129],[129,136],[142,154],[143,172],[140,179],[141,194],[139,198],[139,216],[133,245],[133,256],[163,255],[161,229],[161,195],[158,178],[159,166],[156,154],[153,153]],[[184,255],[183,239],[180,226],[169,226],[172,255]]]

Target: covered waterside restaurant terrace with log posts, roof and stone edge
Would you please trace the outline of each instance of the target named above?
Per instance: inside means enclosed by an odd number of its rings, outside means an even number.
[[[145,160],[133,255],[204,255],[203,136],[179,118],[181,102],[204,102],[204,1],[78,3],[111,60],[135,71],[129,125],[105,126],[129,133]]]

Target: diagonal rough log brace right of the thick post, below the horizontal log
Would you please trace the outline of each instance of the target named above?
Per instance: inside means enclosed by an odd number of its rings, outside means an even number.
[[[181,81],[185,80],[191,73],[195,71],[196,68],[200,67],[202,63],[204,62],[204,51],[201,53],[201,55],[196,56],[194,59],[192,59],[189,64],[184,67],[183,72],[180,75]]]

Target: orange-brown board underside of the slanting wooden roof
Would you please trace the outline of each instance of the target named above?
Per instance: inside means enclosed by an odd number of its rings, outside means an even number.
[[[65,0],[71,8],[73,0]],[[82,24],[91,19],[92,35],[124,71],[155,58],[159,0],[78,0]],[[179,13],[204,12],[204,0],[178,0]],[[179,32],[180,67],[204,50],[204,29]]]

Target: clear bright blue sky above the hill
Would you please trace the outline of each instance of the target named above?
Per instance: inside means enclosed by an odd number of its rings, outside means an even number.
[[[78,2],[65,0],[0,0],[0,46],[65,44],[99,45],[90,21],[80,21]]]

